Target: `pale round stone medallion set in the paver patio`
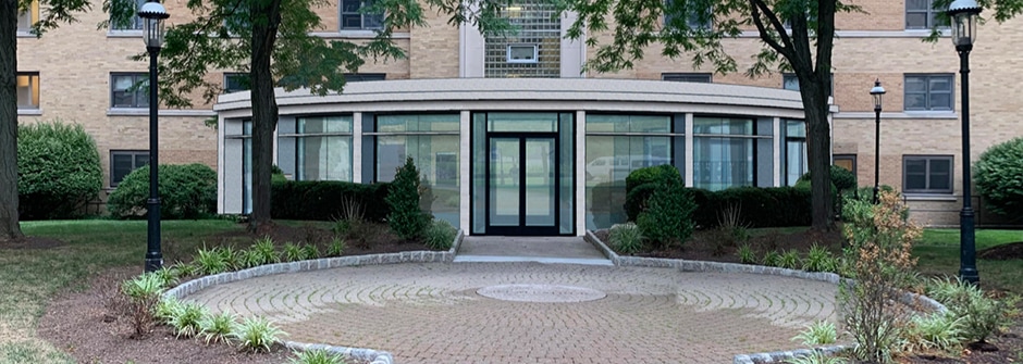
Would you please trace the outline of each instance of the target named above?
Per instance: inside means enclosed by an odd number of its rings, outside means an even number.
[[[595,289],[555,285],[501,285],[483,287],[476,292],[495,300],[539,303],[586,302],[607,297]]]

